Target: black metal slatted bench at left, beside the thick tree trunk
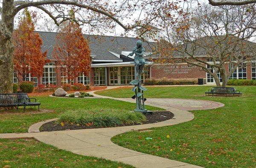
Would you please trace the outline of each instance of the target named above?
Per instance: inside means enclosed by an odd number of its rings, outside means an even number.
[[[30,100],[34,99],[35,102]],[[9,94],[0,94],[0,107],[16,107],[23,106],[23,112],[25,112],[26,106],[39,106],[41,103],[36,102],[35,98],[29,98],[27,93],[9,93]]]

